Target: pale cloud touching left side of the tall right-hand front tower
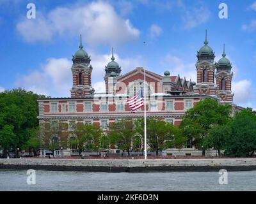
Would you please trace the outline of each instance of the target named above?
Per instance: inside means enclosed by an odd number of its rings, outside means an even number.
[[[196,82],[196,68],[195,63],[185,63],[179,57],[167,54],[161,65],[170,71],[172,76],[180,75],[180,78],[186,77],[186,80]]]

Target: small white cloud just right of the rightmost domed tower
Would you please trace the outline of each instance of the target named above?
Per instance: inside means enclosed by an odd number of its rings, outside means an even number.
[[[252,96],[250,80],[241,80],[232,83],[232,92],[234,92],[234,103],[244,104],[248,103]]]

